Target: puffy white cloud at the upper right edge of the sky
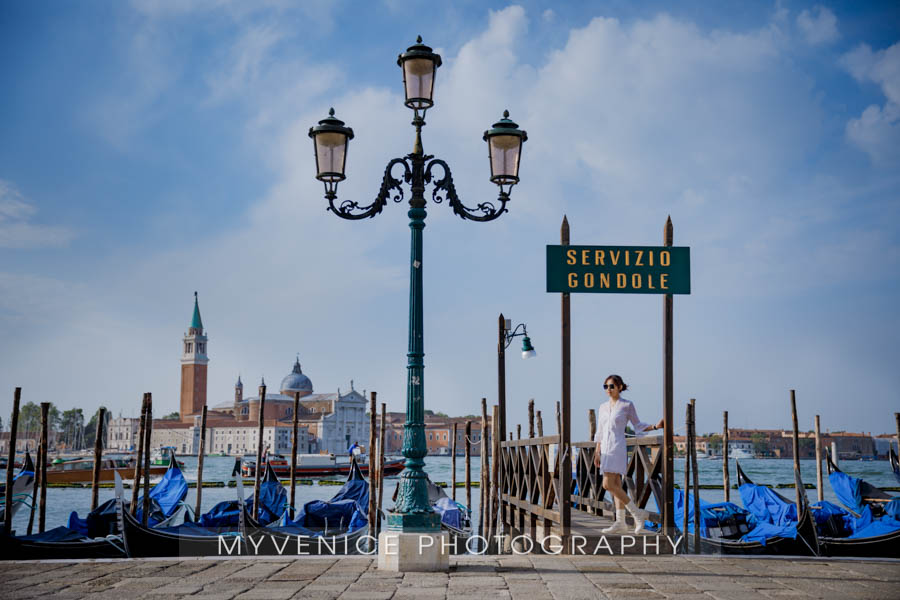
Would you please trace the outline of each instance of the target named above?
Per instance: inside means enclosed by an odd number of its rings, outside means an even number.
[[[886,101],[872,104],[847,123],[847,137],[873,161],[896,165],[900,156],[900,43],[873,52],[861,44],[841,57],[842,66],[861,82],[881,87]]]

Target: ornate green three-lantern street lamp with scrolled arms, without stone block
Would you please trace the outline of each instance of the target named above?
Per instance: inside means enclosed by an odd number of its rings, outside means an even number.
[[[422,127],[425,113],[434,106],[434,80],[441,57],[422,43],[421,36],[416,43],[397,59],[403,69],[405,90],[404,104],[413,110],[412,125],[416,129],[413,151],[403,158],[391,159],[384,170],[381,189],[374,202],[360,206],[352,200],[337,201],[338,183],[344,180],[347,159],[347,145],[353,139],[353,130],[334,116],[319,121],[311,127],[309,136],[313,138],[316,153],[316,179],[325,184],[325,199],[328,210],[343,219],[365,219],[374,217],[387,205],[388,199],[401,202],[404,199],[403,184],[410,189],[409,228],[411,234],[411,256],[409,275],[409,351],[407,353],[406,423],[403,427],[403,456],[406,468],[400,476],[400,489],[396,507],[388,515],[387,527],[394,531],[428,531],[440,529],[440,517],[428,502],[425,455],[425,378],[424,346],[422,328],[422,230],[425,227],[425,187],[432,185],[431,200],[440,204],[445,199],[453,212],[463,219],[472,221],[493,221],[506,211],[509,194],[518,183],[518,169],[522,142],[527,139],[524,131],[509,120],[509,112],[484,133],[491,157],[491,181],[500,186],[497,204],[482,202],[475,208],[465,206],[456,194],[453,175],[447,163],[422,148]],[[439,170],[435,171],[435,167]],[[399,170],[398,177],[394,176]]]

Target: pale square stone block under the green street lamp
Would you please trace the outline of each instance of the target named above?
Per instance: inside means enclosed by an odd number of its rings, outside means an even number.
[[[450,570],[450,534],[446,531],[378,535],[378,570],[399,573]]]

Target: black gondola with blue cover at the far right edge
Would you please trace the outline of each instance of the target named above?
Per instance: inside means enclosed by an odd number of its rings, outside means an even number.
[[[830,502],[813,506],[827,556],[900,558],[900,496],[887,494],[841,471],[825,450],[828,481],[848,510]]]

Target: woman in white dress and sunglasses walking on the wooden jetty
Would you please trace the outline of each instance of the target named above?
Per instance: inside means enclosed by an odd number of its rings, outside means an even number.
[[[662,429],[663,420],[656,425],[644,423],[638,419],[634,404],[622,398],[619,394],[628,389],[625,382],[618,375],[610,375],[603,383],[603,389],[609,396],[609,401],[600,405],[597,412],[597,442],[594,453],[594,464],[603,474],[603,489],[612,494],[616,505],[616,521],[603,533],[623,533],[628,531],[625,523],[625,510],[634,518],[634,532],[640,533],[644,529],[644,521],[647,519],[647,511],[638,508],[625,489],[622,487],[622,477],[625,475],[627,446],[625,444],[625,425],[631,422],[634,432],[639,434],[644,431]]]

